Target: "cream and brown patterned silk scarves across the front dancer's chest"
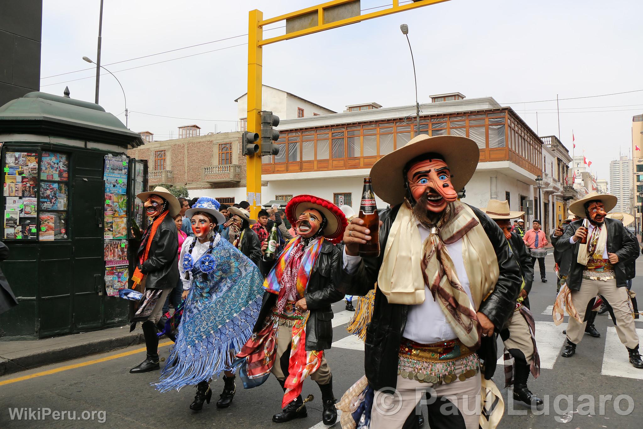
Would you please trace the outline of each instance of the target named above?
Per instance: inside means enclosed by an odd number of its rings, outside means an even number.
[[[473,303],[460,285],[444,246],[460,239]],[[403,204],[386,241],[377,287],[391,304],[413,305],[424,302],[428,285],[460,341],[476,347],[480,335],[475,313],[493,291],[498,275],[496,251],[469,206],[456,201],[453,219],[435,228],[422,244],[417,221],[410,207]]]

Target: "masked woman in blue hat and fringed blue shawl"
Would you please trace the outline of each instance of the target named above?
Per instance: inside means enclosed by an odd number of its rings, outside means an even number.
[[[216,232],[226,219],[219,202],[201,197],[185,215],[195,237],[181,248],[179,271],[185,306],[176,343],[155,386],[167,392],[197,385],[192,410],[210,403],[210,381],[224,372],[217,407],[235,395],[234,355],[252,335],[261,307],[264,277],[251,260]]]

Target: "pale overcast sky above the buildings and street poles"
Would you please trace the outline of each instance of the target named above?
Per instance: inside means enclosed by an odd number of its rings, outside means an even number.
[[[96,60],[100,0],[43,3],[42,91],[62,95],[69,86],[72,98],[93,102],[93,69],[50,76],[89,67],[83,56]],[[202,133],[233,129],[225,121],[238,119],[234,99],[247,89],[247,36],[107,64],[244,35],[253,8],[268,18],[318,3],[323,2],[105,0],[101,62],[125,89],[129,127],[152,131],[157,140],[170,132],[176,138],[177,127],[188,123],[200,125]],[[361,8],[386,4],[362,0]],[[451,0],[266,46],[264,84],[335,111],[372,101],[385,107],[413,104],[410,54],[399,30],[406,23],[421,103],[453,91],[493,96],[534,130],[538,111],[539,135],[557,135],[556,102],[529,102],[643,90],[642,16],[640,0]],[[212,50],[218,51],[203,53]],[[203,55],[177,59],[198,53]],[[177,60],[120,71],[170,59]],[[64,82],[84,77],[89,78]],[[100,104],[125,122],[120,87],[111,75],[100,82]],[[619,148],[629,154],[631,118],[643,113],[643,91],[562,100],[560,109],[563,143],[571,153],[573,129],[576,154],[584,149],[592,170],[609,179]]]

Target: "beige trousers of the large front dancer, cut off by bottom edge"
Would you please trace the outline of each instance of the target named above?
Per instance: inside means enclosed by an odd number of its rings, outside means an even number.
[[[456,374],[460,374],[461,365],[458,361]],[[429,421],[432,417],[439,421],[435,428],[431,429],[457,428],[461,427],[458,421],[464,419],[467,429],[478,429],[480,419],[480,374],[476,374],[464,381],[456,379],[453,383],[442,385],[433,383],[420,383],[416,380],[406,379],[397,376],[397,388],[394,394],[376,392],[373,408],[371,411],[371,429],[393,429],[401,428],[409,414],[421,412],[416,406],[424,397],[424,392],[429,392],[427,402],[429,409]],[[440,406],[440,399],[448,399],[453,405],[443,403]],[[446,405],[445,405],[446,404]],[[457,410],[458,414],[454,415]],[[435,413],[440,414],[439,416]],[[448,424],[449,419],[452,424]]]

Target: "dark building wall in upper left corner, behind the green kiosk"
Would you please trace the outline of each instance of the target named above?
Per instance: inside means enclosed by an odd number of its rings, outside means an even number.
[[[0,0],[0,105],[40,90],[41,34],[42,0]]]

